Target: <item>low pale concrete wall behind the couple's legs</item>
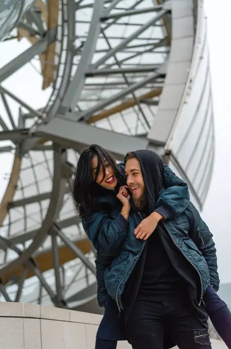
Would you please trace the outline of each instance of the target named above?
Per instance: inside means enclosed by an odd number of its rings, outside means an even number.
[[[0,304],[0,349],[94,349],[101,315],[28,303]],[[131,349],[119,342],[118,349]],[[213,349],[224,349],[216,342]]]

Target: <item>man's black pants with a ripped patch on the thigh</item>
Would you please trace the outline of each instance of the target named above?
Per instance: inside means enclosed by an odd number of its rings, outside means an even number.
[[[179,349],[212,349],[206,322],[184,301],[136,301],[127,321],[133,349],[163,349],[164,333]]]

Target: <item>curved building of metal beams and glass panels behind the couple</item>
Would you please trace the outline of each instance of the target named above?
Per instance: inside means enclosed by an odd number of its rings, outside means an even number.
[[[5,3],[7,23],[11,7]],[[37,0],[30,5],[21,1],[16,29],[0,33],[3,40],[27,38],[31,44],[0,69],[1,105],[8,118],[0,115],[5,141],[0,150],[14,154],[0,205],[0,299],[98,312],[95,251],[74,209],[73,170],[91,143],[100,143],[118,160],[128,150],[153,149],[188,181],[202,207],[214,154],[202,2]],[[42,89],[51,89],[39,110],[4,87],[34,57],[40,61]],[[182,115],[198,76],[204,85],[189,121]],[[20,108],[17,123],[12,101]],[[189,149],[192,172],[181,149],[197,119],[199,133]]]

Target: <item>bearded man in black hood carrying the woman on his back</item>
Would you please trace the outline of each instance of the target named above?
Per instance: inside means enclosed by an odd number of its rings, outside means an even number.
[[[210,283],[218,289],[215,245],[192,203],[176,219],[160,221],[153,232],[148,216],[164,188],[163,170],[163,161],[152,151],[134,151],[125,158],[133,202],[130,215],[138,210],[143,216],[134,229],[135,238],[143,241],[142,253],[121,281],[126,282],[122,304],[127,335],[133,349],[171,346],[164,342],[164,335],[180,349],[210,349],[202,297]],[[127,244],[126,249],[130,247]],[[109,284],[106,280],[106,286]],[[113,298],[113,287],[110,292]],[[119,293],[120,286],[117,300]]]

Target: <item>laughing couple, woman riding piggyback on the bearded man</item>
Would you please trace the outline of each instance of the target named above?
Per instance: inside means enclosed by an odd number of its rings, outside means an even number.
[[[217,295],[209,228],[188,186],[149,150],[119,165],[91,145],[77,164],[73,195],[97,250],[98,302],[105,313],[96,349],[211,348],[207,319],[231,348],[231,314]]]

